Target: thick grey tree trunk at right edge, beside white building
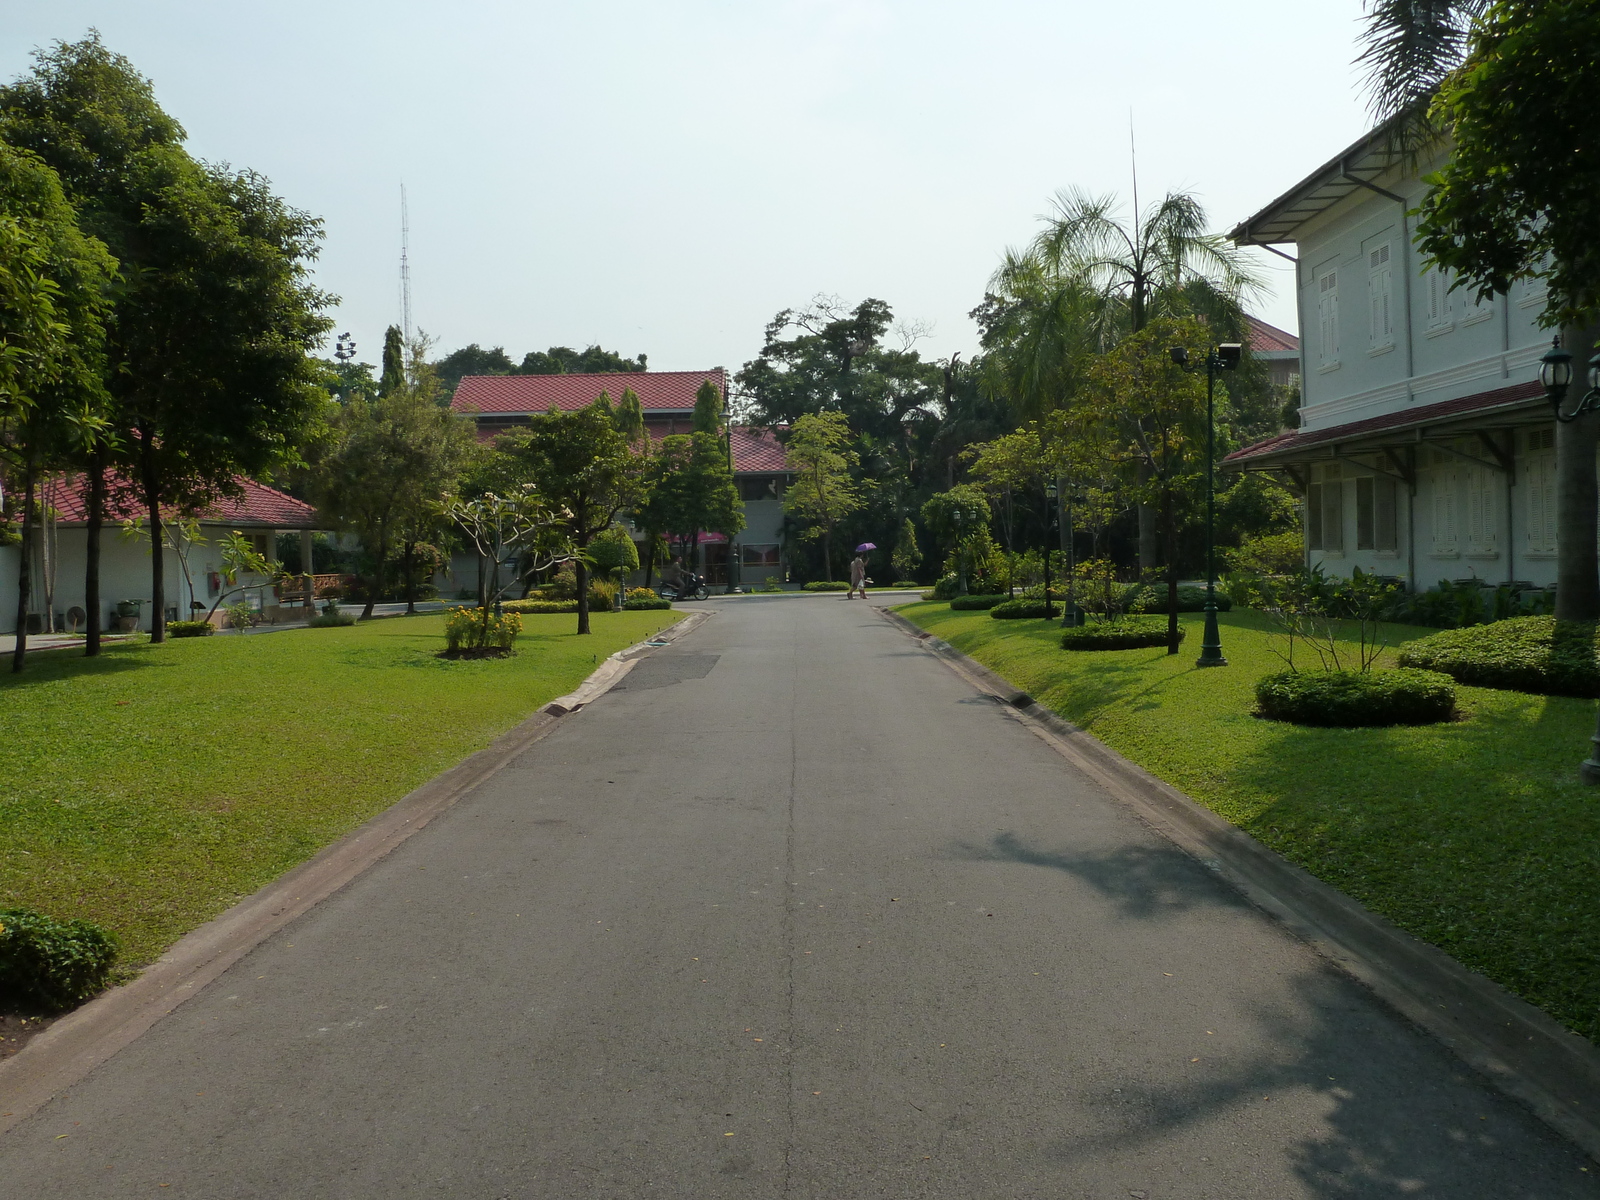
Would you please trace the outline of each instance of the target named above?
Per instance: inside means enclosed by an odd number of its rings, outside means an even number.
[[[1562,342],[1573,355],[1571,392],[1586,392],[1595,330],[1563,330]],[[1555,426],[1557,621],[1600,619],[1600,570],[1595,560],[1597,445],[1600,413],[1586,413],[1570,424]]]

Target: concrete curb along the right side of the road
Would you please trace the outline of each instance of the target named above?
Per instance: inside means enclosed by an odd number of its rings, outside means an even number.
[[[1261,845],[899,613],[878,611],[978,691],[1010,706],[1150,829],[1600,1160],[1600,1050],[1590,1042]]]

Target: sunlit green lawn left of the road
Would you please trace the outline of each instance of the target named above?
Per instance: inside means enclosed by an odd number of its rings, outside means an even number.
[[[0,906],[147,963],[680,616],[525,616],[470,662],[442,616],[32,656],[0,677]]]

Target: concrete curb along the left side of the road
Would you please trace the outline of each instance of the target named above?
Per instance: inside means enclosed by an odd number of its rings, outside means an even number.
[[[709,618],[710,613],[693,613],[661,630],[654,642],[675,642]],[[550,701],[488,747],[434,776],[314,858],[184,934],[138,979],[90,1000],[0,1062],[0,1134],[75,1085],[163,1016],[198,995],[256,946],[333,896],[450,810],[549,734],[560,717],[605,694],[638,658],[654,648],[642,642],[611,654],[578,691]]]

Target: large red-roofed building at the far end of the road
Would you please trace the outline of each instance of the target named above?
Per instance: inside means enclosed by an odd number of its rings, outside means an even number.
[[[472,416],[478,438],[486,442],[541,413],[587,408],[602,392],[616,405],[622,390],[632,389],[645,416],[645,432],[659,440],[694,427],[694,395],[706,382],[728,395],[728,373],[720,366],[706,371],[469,374],[461,379],[450,406]],[[744,530],[731,542],[720,533],[702,534],[698,566],[714,586],[758,587],[768,578],[787,578],[782,499],[794,472],[771,429],[733,426],[728,443],[744,502]]]

